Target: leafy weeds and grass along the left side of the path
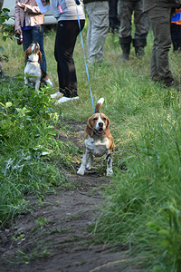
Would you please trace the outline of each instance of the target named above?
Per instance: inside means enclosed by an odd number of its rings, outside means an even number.
[[[28,209],[25,195],[42,202],[55,186],[69,186],[63,167],[71,168],[73,145],[56,136],[60,116],[52,108],[48,87],[25,89],[21,81],[0,85],[0,221],[5,225]],[[59,111],[61,113],[61,110]],[[62,169],[62,173],[59,169]]]

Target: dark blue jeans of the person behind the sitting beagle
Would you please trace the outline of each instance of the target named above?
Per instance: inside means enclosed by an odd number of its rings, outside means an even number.
[[[43,57],[43,63],[40,63],[43,73],[46,73],[46,58],[43,49],[43,24],[34,26],[31,29],[23,30],[23,46],[24,51],[30,44],[38,43]]]

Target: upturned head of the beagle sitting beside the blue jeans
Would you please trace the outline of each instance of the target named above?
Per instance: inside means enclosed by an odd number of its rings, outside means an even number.
[[[29,47],[26,49],[24,62],[27,62],[28,60],[32,62],[43,62],[40,45],[38,43],[30,44]]]

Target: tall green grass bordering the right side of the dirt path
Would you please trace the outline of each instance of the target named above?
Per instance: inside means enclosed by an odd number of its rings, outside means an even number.
[[[140,122],[135,153],[122,158],[127,170],[116,171],[94,229],[101,241],[126,243],[153,271],[180,271],[180,133],[180,120],[176,128],[163,117]]]

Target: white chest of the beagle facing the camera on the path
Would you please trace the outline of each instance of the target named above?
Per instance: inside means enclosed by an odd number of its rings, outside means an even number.
[[[95,157],[101,157],[105,153],[108,153],[110,147],[110,141],[105,135],[99,137],[95,134],[92,138],[89,136],[84,143],[86,149]]]

